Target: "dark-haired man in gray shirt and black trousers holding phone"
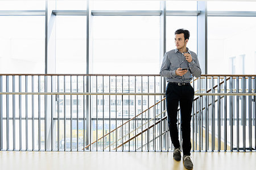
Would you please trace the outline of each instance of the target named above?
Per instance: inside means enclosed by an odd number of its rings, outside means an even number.
[[[194,89],[190,81],[192,77],[199,77],[201,69],[195,52],[187,48],[189,31],[179,29],[175,31],[176,49],[164,55],[160,76],[167,77],[166,103],[168,126],[172,143],[174,144],[174,159],[180,161],[180,142],[177,131],[177,108],[180,103],[183,162],[187,169],[193,168],[190,158],[191,152],[191,111]]]

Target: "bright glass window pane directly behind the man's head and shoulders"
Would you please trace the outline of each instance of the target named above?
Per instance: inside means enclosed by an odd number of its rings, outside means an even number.
[[[166,51],[175,49],[175,34],[179,28],[190,32],[187,47],[197,53],[197,17],[196,16],[167,16],[166,17]]]

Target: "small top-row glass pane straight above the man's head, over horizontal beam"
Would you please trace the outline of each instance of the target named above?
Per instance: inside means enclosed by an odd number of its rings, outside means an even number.
[[[166,10],[173,11],[196,11],[196,1],[166,1]]]

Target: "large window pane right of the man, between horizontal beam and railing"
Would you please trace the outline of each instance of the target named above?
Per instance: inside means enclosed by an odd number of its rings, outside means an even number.
[[[256,17],[208,17],[208,74],[255,74],[255,29]]]

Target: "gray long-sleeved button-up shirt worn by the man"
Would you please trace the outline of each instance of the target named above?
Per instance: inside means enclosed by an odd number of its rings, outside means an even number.
[[[185,60],[184,55],[177,48],[166,52],[160,69],[160,76],[167,77],[168,82],[190,82],[193,76],[199,77],[201,75],[201,68],[197,55],[188,48],[187,51],[192,56],[193,60],[191,63]],[[183,76],[177,76],[175,73],[176,69],[185,67],[189,68],[188,72]]]

